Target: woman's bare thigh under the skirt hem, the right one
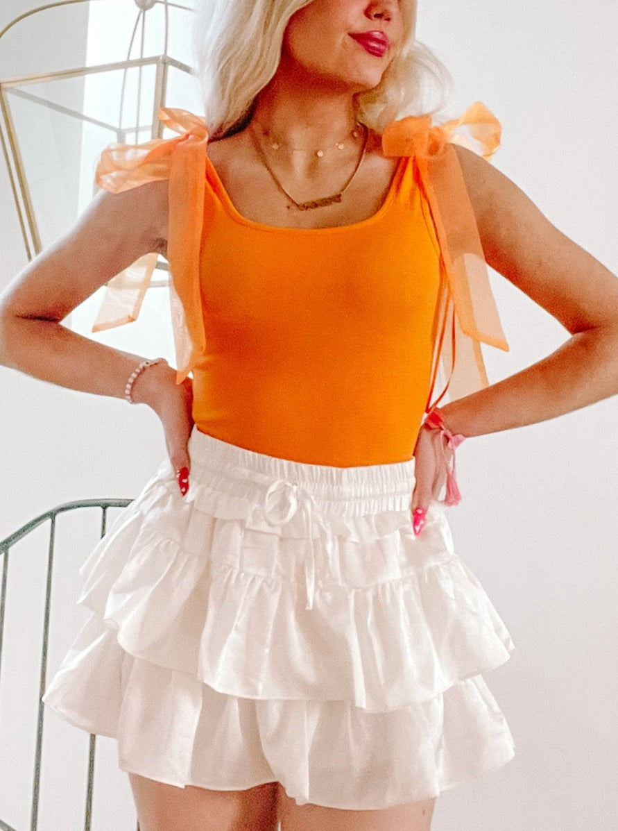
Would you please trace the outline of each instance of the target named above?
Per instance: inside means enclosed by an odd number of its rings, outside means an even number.
[[[436,797],[379,811],[348,811],[297,805],[277,788],[281,831],[429,831]]]

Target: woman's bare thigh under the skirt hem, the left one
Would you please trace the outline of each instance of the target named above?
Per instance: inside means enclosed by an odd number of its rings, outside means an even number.
[[[276,831],[277,782],[208,790],[129,774],[140,831]]]

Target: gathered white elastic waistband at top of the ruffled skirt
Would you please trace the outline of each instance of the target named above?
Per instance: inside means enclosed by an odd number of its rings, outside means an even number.
[[[285,479],[304,485],[328,499],[355,499],[378,494],[410,494],[414,488],[414,458],[385,465],[333,467],[280,459],[215,439],[196,427],[189,439],[192,464],[230,479],[253,479],[268,484]]]

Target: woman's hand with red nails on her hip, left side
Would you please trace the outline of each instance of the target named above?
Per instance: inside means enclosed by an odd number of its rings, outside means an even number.
[[[189,378],[185,378],[182,384],[177,384],[176,371],[165,364],[159,364],[142,373],[135,381],[134,390],[134,400],[148,404],[161,420],[169,460],[174,466],[180,493],[184,496],[189,490],[191,470],[187,445],[194,426],[191,413],[193,384]]]

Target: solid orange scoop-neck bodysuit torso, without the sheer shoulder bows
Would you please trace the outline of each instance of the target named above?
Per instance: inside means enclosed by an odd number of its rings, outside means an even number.
[[[207,162],[199,430],[316,465],[410,459],[429,393],[439,248],[411,158],[365,221],[243,218]]]

